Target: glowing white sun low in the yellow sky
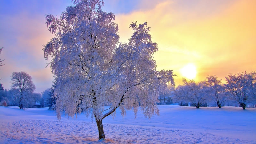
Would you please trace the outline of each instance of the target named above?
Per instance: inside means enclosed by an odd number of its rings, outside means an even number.
[[[192,63],[189,63],[181,68],[180,72],[185,78],[194,79],[196,77],[196,66]]]

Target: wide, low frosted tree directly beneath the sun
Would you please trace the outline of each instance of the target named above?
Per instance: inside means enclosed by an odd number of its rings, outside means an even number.
[[[174,99],[177,102],[190,102],[196,108],[200,108],[207,101],[208,87],[206,81],[196,83],[194,80],[187,81],[183,78],[184,85],[179,85],[175,90]]]

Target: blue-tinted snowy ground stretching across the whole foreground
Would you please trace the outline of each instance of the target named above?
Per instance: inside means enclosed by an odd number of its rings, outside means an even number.
[[[256,143],[256,108],[159,105],[160,116],[103,120],[105,143]],[[47,108],[0,106],[0,143],[100,143],[96,122],[84,115],[56,119]]]

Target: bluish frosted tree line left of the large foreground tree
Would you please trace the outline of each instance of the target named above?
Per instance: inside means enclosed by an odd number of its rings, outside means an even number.
[[[52,104],[51,89],[42,93],[35,93],[36,86],[32,77],[26,72],[13,72],[11,76],[11,89],[4,89],[0,83],[0,105],[19,106],[20,109],[29,107],[50,107]]]

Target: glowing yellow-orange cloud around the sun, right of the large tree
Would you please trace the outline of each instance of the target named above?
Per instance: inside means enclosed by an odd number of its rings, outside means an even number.
[[[222,78],[256,68],[256,1],[164,1],[152,9],[117,14],[121,41],[132,34],[131,21],[147,21],[150,34],[158,43],[154,55],[158,69],[173,69],[181,80],[179,69],[194,63],[196,80],[207,75]],[[187,9],[184,9],[187,8]]]

